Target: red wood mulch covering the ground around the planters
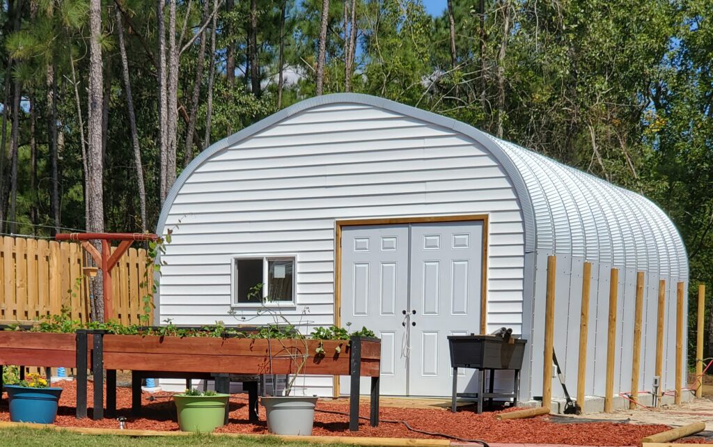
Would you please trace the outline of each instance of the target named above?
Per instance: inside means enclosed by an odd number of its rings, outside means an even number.
[[[74,382],[63,382],[64,391],[60,400],[60,408],[56,425],[74,427],[118,428],[114,419],[92,421],[91,418],[76,419]],[[91,407],[92,391],[89,384],[88,401]],[[149,400],[153,399],[153,400]],[[144,393],[142,396],[143,417],[131,416],[131,390],[120,387],[117,389],[116,403],[118,415],[127,418],[126,428],[142,430],[177,431],[175,405],[170,399],[170,393]],[[409,431],[401,423],[379,423],[379,427],[369,426],[366,420],[361,421],[359,432],[349,431],[349,418],[345,414],[325,413],[324,411],[339,411],[346,413],[349,406],[343,403],[320,401],[317,405],[314,421],[314,435],[317,436],[374,436],[389,438],[440,438]],[[510,411],[510,410],[504,410]],[[578,446],[636,446],[641,438],[669,429],[664,425],[635,425],[630,423],[554,423],[548,416],[520,419],[513,421],[497,421],[495,416],[502,411],[476,414],[471,408],[461,409],[451,413],[446,409],[380,409],[381,419],[406,420],[414,428],[426,431],[448,433],[461,438],[483,439],[488,442],[501,443],[548,443],[570,444]],[[91,415],[91,409],[89,410]],[[362,404],[361,416],[369,416],[368,404]],[[265,417],[260,409],[261,418]],[[0,404],[0,421],[9,421],[7,401]],[[230,399],[230,423],[219,428],[222,433],[267,433],[264,421],[250,423],[247,421],[247,399],[244,394],[234,395]]]

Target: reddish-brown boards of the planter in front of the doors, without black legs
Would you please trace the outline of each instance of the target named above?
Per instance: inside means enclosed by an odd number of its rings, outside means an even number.
[[[348,340],[103,336],[104,369],[348,376],[351,354]],[[361,341],[359,375],[379,376],[380,354],[380,341]]]

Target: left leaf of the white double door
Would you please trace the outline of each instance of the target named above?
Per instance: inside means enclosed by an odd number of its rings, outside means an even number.
[[[342,228],[342,324],[365,326],[381,338],[381,394],[406,395],[409,226]],[[340,382],[349,392],[349,378]],[[361,391],[369,390],[367,382]]]

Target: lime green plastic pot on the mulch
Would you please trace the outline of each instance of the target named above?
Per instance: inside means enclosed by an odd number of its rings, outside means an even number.
[[[175,394],[173,399],[176,403],[178,426],[181,431],[211,433],[215,428],[222,427],[229,397],[229,394],[215,396]]]

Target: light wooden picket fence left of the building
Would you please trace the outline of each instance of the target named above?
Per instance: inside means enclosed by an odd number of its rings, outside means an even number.
[[[73,319],[88,321],[87,260],[73,242],[0,237],[0,320],[28,322],[66,306]],[[153,272],[146,278],[146,250],[130,248],[112,270],[115,319],[122,324],[140,323]]]

